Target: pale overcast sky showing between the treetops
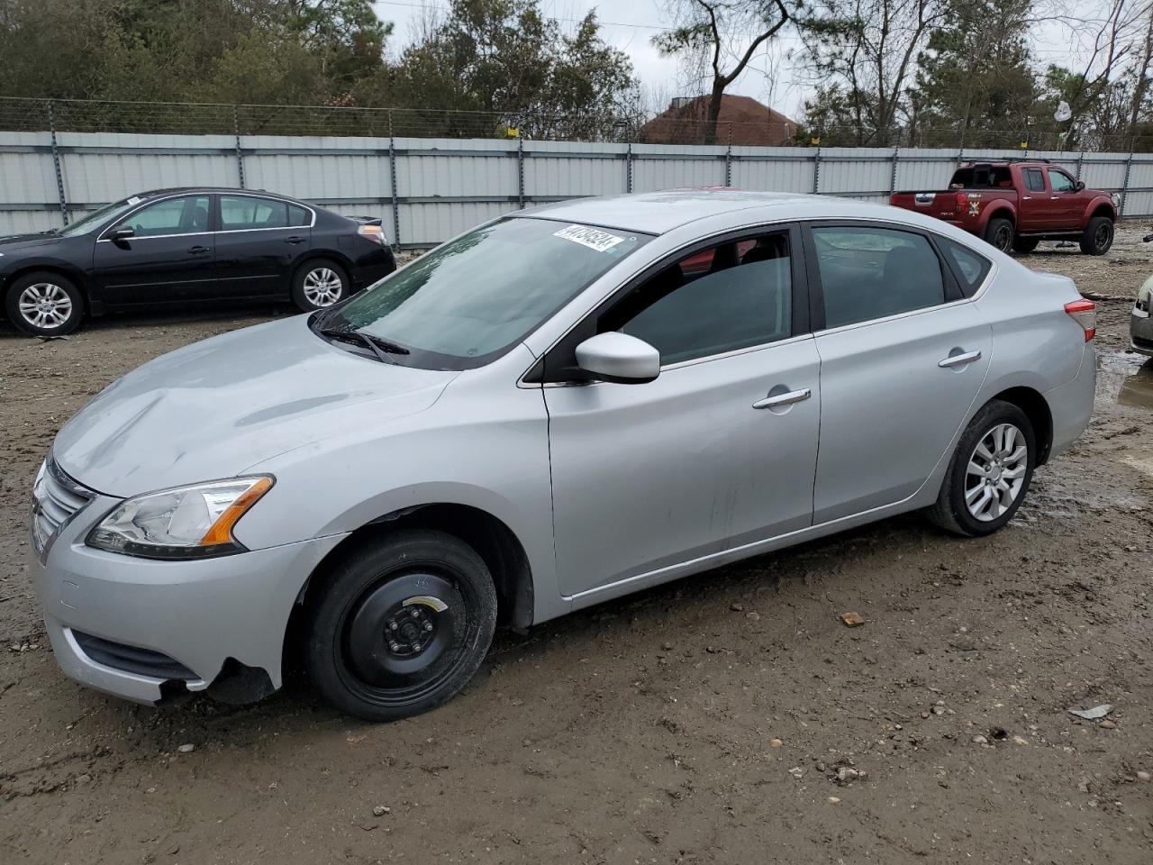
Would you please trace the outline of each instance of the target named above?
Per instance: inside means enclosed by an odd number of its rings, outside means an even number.
[[[1106,0],[1045,0],[1046,6],[1064,6],[1080,15],[1092,15]],[[377,15],[395,24],[393,50],[412,42],[414,25],[430,9],[447,8],[447,0],[374,0]],[[641,83],[653,95],[662,98],[693,95],[694,88],[681,74],[676,60],[662,58],[650,42],[651,37],[669,27],[663,0],[541,0],[543,13],[572,29],[590,9],[597,10],[603,38],[624,51],[633,62]],[[746,43],[747,44],[747,43]],[[790,50],[799,40],[792,33],[759,51],[745,73],[729,86],[728,92],[751,96],[793,119],[804,113],[804,101],[813,92],[812,82],[798,65],[790,60]],[[1064,25],[1042,25],[1034,38],[1034,54],[1042,65],[1071,65],[1087,54],[1078,39]],[[653,106],[656,107],[656,106]]]

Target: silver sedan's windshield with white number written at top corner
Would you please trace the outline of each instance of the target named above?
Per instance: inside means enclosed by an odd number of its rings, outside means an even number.
[[[445,243],[322,314],[407,348],[398,363],[466,369],[491,360],[651,239],[552,219],[505,218]]]

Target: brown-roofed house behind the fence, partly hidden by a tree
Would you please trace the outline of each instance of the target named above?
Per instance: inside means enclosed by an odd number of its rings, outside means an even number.
[[[657,114],[638,133],[638,141],[647,144],[703,144],[708,123],[709,97],[679,96],[672,105]],[[721,97],[717,116],[717,144],[779,146],[792,144],[797,121],[790,120],[768,105],[747,96]]]

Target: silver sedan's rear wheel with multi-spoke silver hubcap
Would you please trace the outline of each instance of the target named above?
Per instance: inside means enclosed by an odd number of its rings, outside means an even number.
[[[1015,430],[1013,441],[1009,447],[997,450],[994,445],[1007,441],[997,437],[998,430],[1008,431],[1008,428]],[[1022,445],[1025,453],[1013,459]],[[984,452],[979,447],[984,447]],[[1028,492],[1035,462],[1037,438],[1028,418],[1011,403],[990,400],[962,434],[936,504],[927,512],[928,518],[941,528],[967,537],[993,534],[1011,520],[1020,507]],[[971,474],[971,465],[987,469],[989,476]],[[993,490],[996,504],[986,499],[987,492],[978,491],[982,489]],[[967,503],[971,497],[974,499],[972,505]],[[981,504],[985,505],[984,509],[980,507]]]

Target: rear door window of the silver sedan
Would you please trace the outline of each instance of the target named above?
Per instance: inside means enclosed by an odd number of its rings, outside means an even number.
[[[920,234],[890,228],[813,228],[824,326],[884,318],[944,302],[941,261]]]

